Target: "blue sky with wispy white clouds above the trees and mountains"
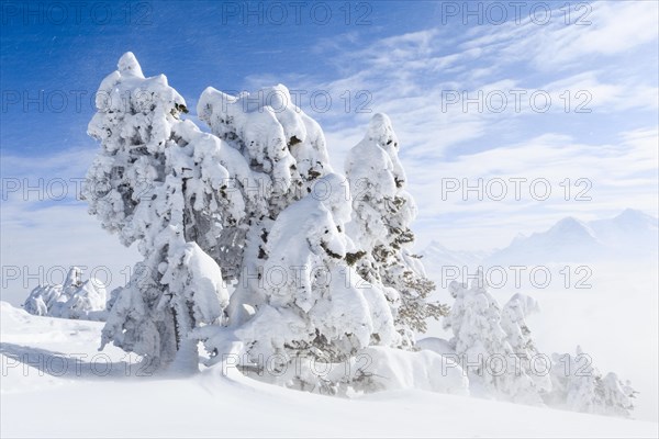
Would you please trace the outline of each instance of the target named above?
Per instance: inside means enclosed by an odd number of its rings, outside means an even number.
[[[501,247],[568,215],[657,215],[658,3],[537,3],[3,2],[2,264],[116,272],[136,258],[85,203],[46,188],[59,178],[75,195],[70,179],[97,148],[86,135],[90,97],[127,50],[191,109],[209,86],[306,92],[298,103],[324,127],[337,170],[372,112],[388,113],[420,207],[418,248]],[[313,93],[332,105],[313,105]],[[463,97],[473,100],[466,108]],[[40,179],[43,196],[8,185]],[[510,179],[544,179],[552,192],[537,200],[524,183],[520,200],[442,196],[478,179],[503,179],[509,193]],[[580,190],[590,201],[574,200]]]

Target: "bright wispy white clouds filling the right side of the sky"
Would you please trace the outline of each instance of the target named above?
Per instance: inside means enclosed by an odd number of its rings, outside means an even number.
[[[319,48],[340,66],[338,78],[320,86],[317,78],[308,78],[305,83],[334,94],[367,89],[373,111],[390,114],[421,206],[416,229],[422,240],[437,237],[456,248],[492,247],[571,214],[593,218],[627,206],[654,213],[657,8],[655,2],[594,2],[572,11],[570,25],[558,19],[547,25],[526,19],[463,32],[442,26],[366,46],[351,34]],[[590,24],[574,25],[580,16]],[[526,93],[518,109],[511,90]],[[460,102],[446,105],[447,91],[466,92],[476,101],[479,93],[503,92],[509,104],[501,112],[487,102],[484,109],[478,102],[465,106],[460,95]],[[529,103],[534,91],[549,97],[546,113]],[[355,126],[364,127],[368,116],[321,115],[330,121],[327,137],[337,166],[360,137]],[[440,179],[447,177],[470,183],[544,178],[554,194],[541,203],[528,196],[443,201]],[[588,180],[592,200],[566,201],[560,192],[566,189],[559,185],[566,179],[572,185]],[[584,188],[571,188],[570,195]]]

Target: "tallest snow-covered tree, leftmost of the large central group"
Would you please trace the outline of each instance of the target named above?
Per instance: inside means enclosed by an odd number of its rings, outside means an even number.
[[[112,341],[170,363],[190,330],[222,317],[228,302],[221,270],[206,254],[223,224],[241,221],[241,194],[226,191],[220,139],[181,121],[185,100],[160,75],[145,78],[127,53],[97,94],[89,134],[101,151],[88,171],[90,213],[144,256],[110,312]],[[189,349],[190,352],[193,349]]]

